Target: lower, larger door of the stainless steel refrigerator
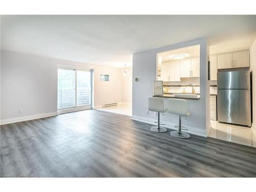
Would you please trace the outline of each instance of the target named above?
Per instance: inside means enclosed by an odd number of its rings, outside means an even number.
[[[250,90],[218,90],[218,121],[251,126]]]

